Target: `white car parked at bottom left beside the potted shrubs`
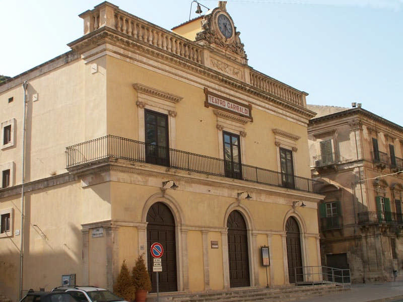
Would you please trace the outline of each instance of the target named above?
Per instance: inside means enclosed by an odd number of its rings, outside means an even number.
[[[52,291],[64,291],[79,302],[127,302],[105,288],[96,286],[58,286]]]

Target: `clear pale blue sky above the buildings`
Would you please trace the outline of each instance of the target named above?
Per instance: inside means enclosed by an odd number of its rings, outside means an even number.
[[[14,77],[69,51],[83,35],[78,15],[101,2],[0,0],[0,74]],[[189,19],[191,3],[109,2],[166,29]],[[309,93],[308,104],[358,102],[403,125],[403,0],[229,0],[227,11],[249,65]]]

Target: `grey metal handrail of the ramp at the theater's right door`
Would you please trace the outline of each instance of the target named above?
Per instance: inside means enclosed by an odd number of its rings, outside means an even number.
[[[298,266],[294,268],[295,284],[351,285],[350,269],[328,266]]]

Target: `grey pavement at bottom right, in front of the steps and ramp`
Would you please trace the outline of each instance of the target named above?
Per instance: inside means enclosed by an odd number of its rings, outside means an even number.
[[[296,302],[403,302],[403,280],[385,283],[353,284],[351,290],[309,299],[297,299]]]

